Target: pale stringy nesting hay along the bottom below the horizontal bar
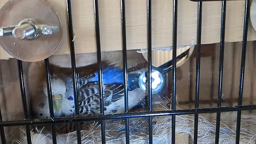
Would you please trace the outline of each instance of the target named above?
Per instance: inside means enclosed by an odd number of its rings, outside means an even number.
[[[219,143],[235,143],[236,138],[236,112],[222,113]],[[214,114],[215,115],[215,114]],[[240,143],[255,143],[256,115],[242,114]],[[147,143],[148,119],[130,119],[130,143]],[[154,143],[171,143],[171,116],[153,118]],[[39,134],[42,131],[39,132]],[[24,132],[25,133],[25,132]],[[175,133],[187,133],[190,143],[193,143],[194,115],[177,115]],[[35,134],[35,133],[33,133]],[[101,143],[101,128],[98,122],[91,123],[81,131],[82,143]],[[43,135],[51,138],[51,134]],[[38,138],[38,137],[37,137]],[[42,138],[41,138],[42,139]],[[63,143],[77,143],[76,132],[58,135],[58,140]],[[18,143],[26,143],[26,137]],[[198,143],[214,143],[215,120],[199,115],[198,118]],[[13,143],[15,143],[13,142]],[[34,143],[40,143],[38,140]],[[62,143],[62,142],[61,142]],[[125,125],[122,120],[106,121],[106,143],[125,143]]]

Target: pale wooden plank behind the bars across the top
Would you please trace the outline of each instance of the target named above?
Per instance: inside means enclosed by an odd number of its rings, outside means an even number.
[[[60,14],[63,23],[63,40],[55,55],[68,54],[67,18],[65,0],[48,0]],[[0,1],[2,6],[7,0]],[[94,10],[92,0],[72,1],[73,27],[76,53],[96,51]],[[119,0],[99,0],[100,37],[102,51],[122,48],[121,9]],[[239,42],[243,37],[245,1],[227,2],[226,41]],[[153,47],[172,46],[173,1],[152,1]],[[220,42],[221,2],[203,3],[202,44]],[[126,1],[127,49],[147,47],[147,1]],[[178,1],[178,45],[189,45],[196,40],[197,3]],[[256,33],[249,23],[248,41],[254,41]],[[0,49],[0,59],[10,58]]]

